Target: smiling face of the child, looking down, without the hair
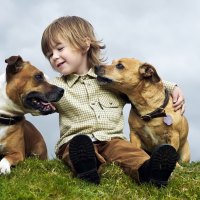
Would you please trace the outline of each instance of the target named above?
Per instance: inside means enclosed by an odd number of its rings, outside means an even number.
[[[53,43],[51,52],[47,53],[47,57],[52,67],[63,75],[68,74],[85,74],[88,72],[87,52],[75,50],[65,40],[59,43]]]

